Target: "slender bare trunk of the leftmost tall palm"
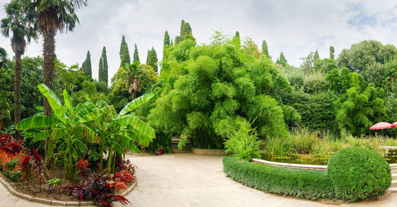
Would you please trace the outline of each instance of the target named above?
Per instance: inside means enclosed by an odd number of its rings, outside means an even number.
[[[15,68],[14,68],[14,123],[17,126],[21,121],[21,55],[15,55]],[[19,130],[15,130],[15,139],[20,139]]]

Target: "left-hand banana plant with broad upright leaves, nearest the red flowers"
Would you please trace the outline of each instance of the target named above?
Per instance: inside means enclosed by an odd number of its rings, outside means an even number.
[[[53,116],[35,115],[19,121],[16,128],[18,130],[41,130],[32,139],[33,142],[45,141],[49,137],[46,157],[63,157],[65,175],[68,179],[72,179],[76,160],[84,157],[88,152],[85,143],[96,141],[95,132],[79,119],[92,112],[96,106],[94,103],[86,102],[73,107],[72,100],[66,90],[63,90],[63,101],[65,103],[63,105],[50,88],[44,84],[37,87],[43,96],[48,99],[54,112]],[[54,153],[54,150],[56,150],[56,153]]]

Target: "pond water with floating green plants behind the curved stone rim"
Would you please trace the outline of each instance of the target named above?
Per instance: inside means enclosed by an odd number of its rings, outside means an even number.
[[[389,150],[387,155],[385,155],[385,151],[379,151],[380,155],[383,155],[386,161],[389,164],[396,164],[397,163],[397,150]],[[303,154],[294,154],[294,155],[287,155],[284,157],[267,157],[262,156],[262,159],[268,161],[276,161],[276,162],[283,162],[283,163],[292,163],[292,164],[306,164],[306,165],[321,165],[326,166],[332,154],[323,154],[323,155],[303,155]]]

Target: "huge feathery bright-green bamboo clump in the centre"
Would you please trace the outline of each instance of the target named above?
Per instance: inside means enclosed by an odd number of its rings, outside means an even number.
[[[180,148],[187,140],[223,148],[240,119],[253,121],[261,138],[288,135],[276,99],[289,83],[250,39],[241,49],[232,39],[201,46],[187,39],[170,46],[166,57],[147,119],[158,132],[180,136]]]

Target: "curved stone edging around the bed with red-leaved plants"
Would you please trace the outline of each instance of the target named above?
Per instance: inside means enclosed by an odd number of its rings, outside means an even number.
[[[11,193],[11,195],[14,195],[16,197],[19,197],[21,199],[25,199],[27,201],[31,202],[36,202],[39,204],[48,204],[52,206],[94,206],[94,201],[59,201],[59,200],[50,200],[50,199],[43,199],[40,197],[33,197],[32,195],[27,195],[23,193],[17,192],[17,190],[14,190],[10,184],[8,184],[8,181],[6,181],[3,178],[3,174],[0,173],[0,182],[3,184],[4,187],[7,188],[7,190]],[[128,195],[131,193],[132,190],[136,187],[136,184],[138,183],[138,180],[136,179],[134,184],[130,186],[127,190],[124,191],[122,194],[123,196]]]

